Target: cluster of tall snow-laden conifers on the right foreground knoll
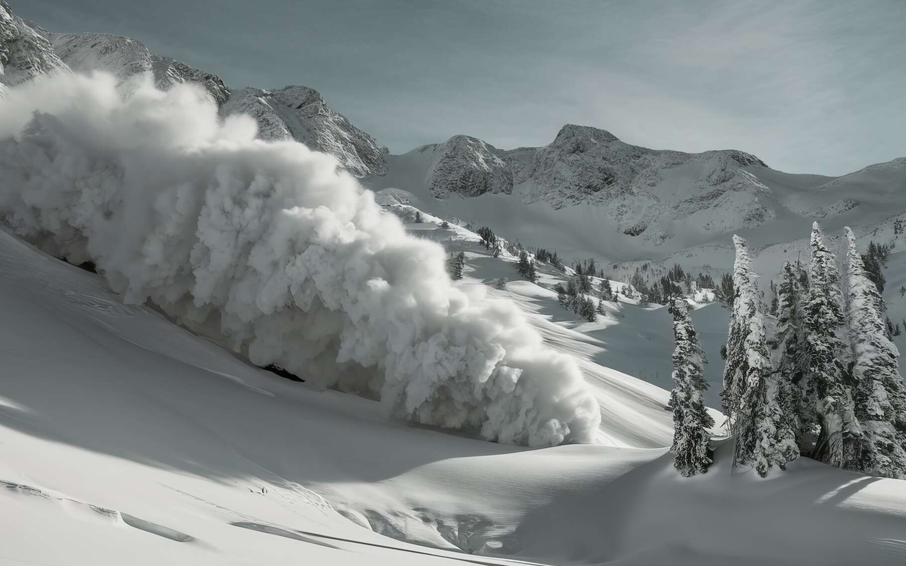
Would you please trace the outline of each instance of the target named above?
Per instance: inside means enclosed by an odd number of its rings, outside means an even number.
[[[891,246],[872,243],[860,254],[853,231],[847,227],[844,235],[845,281],[817,223],[808,269],[798,262],[783,265],[780,283],[772,285],[773,336],[766,332],[746,240],[734,236],[721,393],[735,443],[734,465],[751,465],[764,476],[809,456],[853,471],[906,478],[906,388],[878,277]],[[773,301],[769,308],[775,308]],[[713,421],[703,409],[704,357],[685,301],[676,300],[671,312],[676,339],[671,449],[679,472],[693,475],[710,464]]]

